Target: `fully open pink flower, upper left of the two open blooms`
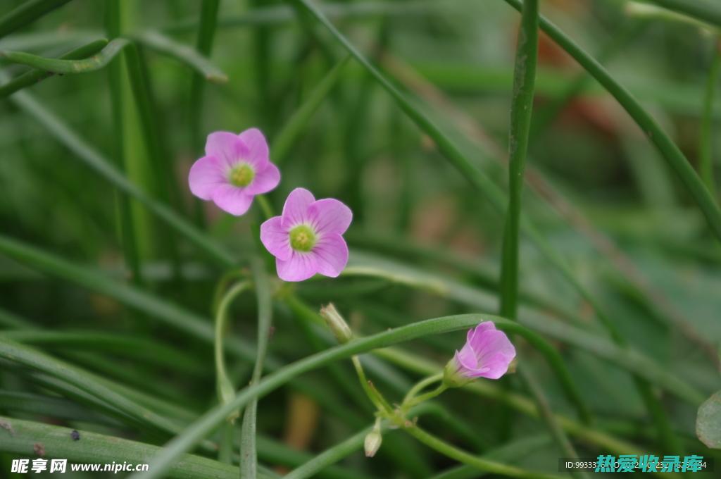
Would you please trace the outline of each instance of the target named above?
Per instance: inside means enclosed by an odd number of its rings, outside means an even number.
[[[230,214],[245,214],[253,197],[273,190],[280,171],[268,159],[265,136],[257,128],[239,135],[216,131],[205,141],[205,157],[190,167],[190,191]]]

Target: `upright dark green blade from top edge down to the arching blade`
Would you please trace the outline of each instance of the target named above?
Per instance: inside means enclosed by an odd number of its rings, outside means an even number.
[[[539,48],[539,2],[526,0],[518,30],[516,67],[508,131],[508,209],[503,231],[500,273],[500,314],[516,319],[518,312],[518,236],[521,229],[523,170],[526,167],[528,134],[534,109],[534,85]]]

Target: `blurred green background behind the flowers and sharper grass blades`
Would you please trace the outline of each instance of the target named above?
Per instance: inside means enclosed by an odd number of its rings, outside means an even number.
[[[21,3],[3,1],[0,14]],[[173,328],[172,320],[157,320],[172,312],[158,314],[144,299],[113,294],[112,285],[130,284],[133,291],[178,304],[211,325],[213,294],[229,268],[208,258],[141,202],[128,200],[89,167],[87,158],[114,165],[244,265],[254,254],[252,218],[234,219],[212,203],[196,202],[187,189],[190,164],[202,154],[208,133],[252,126],[264,131],[271,159],[280,162],[274,141],[346,56],[313,19],[275,1],[221,1],[209,48],[202,33],[198,40],[202,3],[119,2],[119,32],[139,47],[141,75],[151,95],[146,104],[138,103],[128,66],[120,61],[125,53],[105,68],[51,76],[0,102],[0,243],[17,242],[0,250],[3,334],[176,405],[190,417],[216,402],[212,345]],[[640,100],[696,168],[704,147],[704,99],[717,33],[663,15],[629,14],[628,3],[548,0],[541,2],[541,11]],[[112,39],[107,15],[113,8],[113,2],[70,1],[2,38],[0,50],[56,58],[91,40]],[[323,12],[409,95],[412,107],[433,118],[474,167],[505,189],[515,10],[502,1],[373,0],[324,4]],[[159,51],[157,41],[147,40],[149,32],[172,42],[174,50]],[[227,82],[205,82],[189,68],[186,50],[198,45]],[[4,61],[1,53],[0,63],[0,84],[29,69]],[[433,139],[359,63],[350,60],[343,66],[322,100],[297,134],[286,136],[291,143],[284,145],[283,178],[268,197],[277,211],[290,190],[303,186],[317,198],[347,203],[354,213],[347,235],[350,271],[337,280],[300,284],[298,295],[312,309],[335,302],[361,334],[429,317],[497,312],[503,215],[446,162]],[[143,121],[146,105],[149,123]],[[706,144],[717,163],[718,100],[710,102],[709,112],[712,133]],[[526,239],[519,321],[562,354],[595,417],[593,426],[583,429],[614,435],[657,455],[715,454],[696,439],[694,423],[699,398],[720,389],[717,240],[640,128],[545,35],[533,118],[524,214],[603,305],[629,348],[647,362],[611,347],[588,298]],[[94,152],[79,154],[63,128]],[[139,274],[128,263],[128,242],[136,247]],[[33,250],[17,252],[17,245]],[[77,271],[48,266],[35,249],[88,268],[91,276],[82,279]],[[384,273],[365,274],[363,268]],[[92,275],[112,283],[104,289]],[[314,341],[326,347],[327,336],[298,322],[286,305],[279,303],[274,312],[269,347],[278,364],[314,352]],[[255,315],[255,299],[242,296],[231,315],[234,335],[254,343]],[[33,330],[68,336],[43,340],[39,333],[28,333]],[[74,331],[83,332],[75,341],[69,336]],[[118,341],[114,346],[94,342],[91,332],[117,335]],[[441,365],[461,341],[462,335],[454,333],[408,348]],[[550,409],[575,416],[542,356],[531,348],[519,356],[520,367],[541,384]],[[228,361],[236,385],[246,384],[253,361]],[[375,366],[371,377],[375,374],[379,387],[395,400],[417,377],[397,364],[368,361]],[[629,374],[647,363],[653,364],[653,374],[661,371],[688,387],[679,394],[671,380],[651,381],[678,452],[658,439]],[[167,434],[118,418],[87,395],[53,384],[47,374],[19,369],[7,358],[1,366],[4,416],[149,444],[167,441]],[[372,422],[360,387],[339,387],[338,374],[352,377],[352,369],[348,364],[319,369],[260,401],[263,465],[290,470]],[[458,429],[442,417],[421,421],[474,452],[547,434],[542,421],[508,405],[505,395],[530,397],[527,385],[515,375],[499,383],[485,396],[443,396],[444,411],[461,421]],[[51,400],[61,401],[58,409],[48,406],[55,404]],[[389,437],[394,439],[373,460],[355,453],[337,469],[326,470],[325,477],[426,478],[454,466],[402,434]],[[580,457],[614,453],[583,437],[574,435],[572,441]],[[2,456],[3,461],[12,457],[17,457],[12,451]],[[557,472],[557,457],[562,452],[547,441],[505,462]]]

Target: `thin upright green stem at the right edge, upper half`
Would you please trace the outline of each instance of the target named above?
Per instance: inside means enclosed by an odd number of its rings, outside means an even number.
[[[716,180],[714,177],[714,100],[719,87],[721,74],[721,36],[713,40],[713,58],[709,66],[709,76],[704,94],[704,107],[699,132],[699,171],[702,180],[711,194],[716,196]]]

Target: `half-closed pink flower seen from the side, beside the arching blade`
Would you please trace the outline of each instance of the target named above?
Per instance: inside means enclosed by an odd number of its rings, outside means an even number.
[[[446,378],[461,384],[463,378],[498,379],[508,372],[515,357],[516,348],[508,336],[497,330],[493,322],[485,321],[468,331],[466,344],[446,366]]]

